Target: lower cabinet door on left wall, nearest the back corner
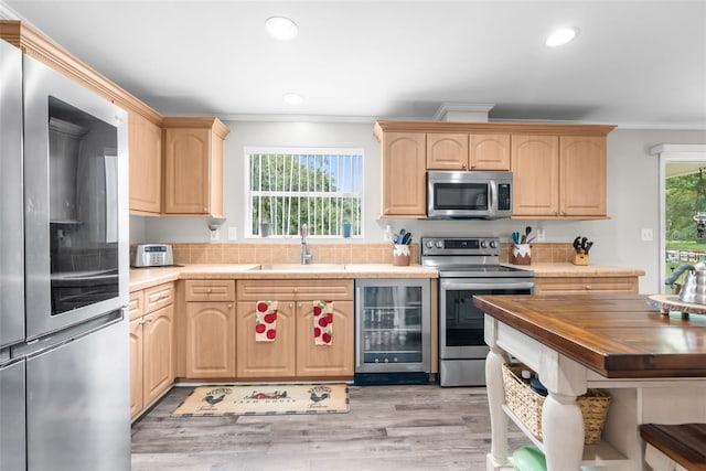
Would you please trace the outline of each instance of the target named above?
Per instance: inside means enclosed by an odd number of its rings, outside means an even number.
[[[145,314],[145,405],[174,382],[174,307]]]

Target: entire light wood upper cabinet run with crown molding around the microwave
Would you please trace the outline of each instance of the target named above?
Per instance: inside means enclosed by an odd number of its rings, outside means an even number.
[[[376,121],[382,217],[426,217],[426,171],[513,172],[513,217],[606,218],[606,136],[614,126]]]

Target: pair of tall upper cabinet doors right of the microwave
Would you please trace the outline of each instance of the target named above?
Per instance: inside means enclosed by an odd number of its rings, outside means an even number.
[[[606,138],[512,136],[513,217],[605,218]]]

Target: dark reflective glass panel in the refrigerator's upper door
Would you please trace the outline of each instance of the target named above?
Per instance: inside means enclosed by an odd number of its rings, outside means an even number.
[[[118,131],[54,97],[50,111],[52,315],[118,296]]]

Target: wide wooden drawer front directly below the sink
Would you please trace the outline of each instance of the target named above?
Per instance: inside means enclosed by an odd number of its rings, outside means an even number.
[[[352,301],[353,280],[245,280],[238,281],[237,296],[238,302],[267,299]]]

